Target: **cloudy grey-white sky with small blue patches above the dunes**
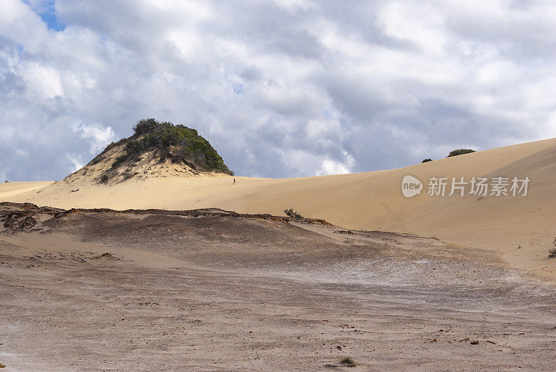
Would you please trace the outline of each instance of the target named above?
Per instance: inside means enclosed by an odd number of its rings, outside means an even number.
[[[0,180],[59,180],[153,117],[240,176],[556,137],[551,0],[0,0]]]

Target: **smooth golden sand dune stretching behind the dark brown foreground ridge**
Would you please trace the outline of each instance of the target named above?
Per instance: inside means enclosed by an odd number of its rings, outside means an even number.
[[[403,176],[425,184],[436,177],[531,179],[528,195],[427,196],[401,192]],[[506,146],[402,169],[308,178],[268,179],[226,175],[156,177],[113,185],[86,177],[49,183],[0,185],[1,201],[58,208],[223,208],[282,214],[294,208],[357,230],[385,230],[439,237],[464,246],[494,249],[530,273],[556,278],[547,258],[556,236],[556,139]],[[18,189],[19,187],[19,189]],[[39,188],[40,187],[40,188]],[[518,248],[521,246],[521,248]]]

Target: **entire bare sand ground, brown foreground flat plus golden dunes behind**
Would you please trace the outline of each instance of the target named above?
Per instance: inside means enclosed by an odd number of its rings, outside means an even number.
[[[236,185],[153,159],[0,184],[27,203],[0,203],[6,371],[553,370],[556,139]],[[404,198],[408,174],[531,182]]]

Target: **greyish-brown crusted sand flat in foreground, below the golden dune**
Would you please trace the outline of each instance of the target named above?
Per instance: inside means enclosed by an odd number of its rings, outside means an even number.
[[[220,210],[0,216],[6,371],[553,370],[553,287],[493,251]]]

